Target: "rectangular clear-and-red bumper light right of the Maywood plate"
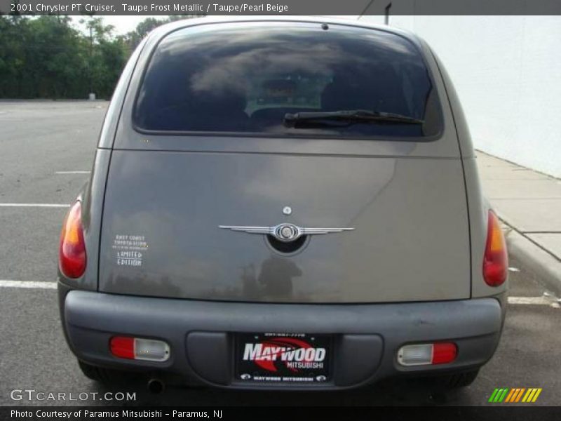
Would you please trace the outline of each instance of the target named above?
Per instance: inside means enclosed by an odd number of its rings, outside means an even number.
[[[398,350],[398,363],[402,366],[426,366],[451,363],[456,359],[458,347],[453,342],[405,345]]]

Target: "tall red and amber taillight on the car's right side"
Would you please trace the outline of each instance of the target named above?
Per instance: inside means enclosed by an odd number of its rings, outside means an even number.
[[[499,218],[489,210],[487,222],[487,244],[483,256],[483,279],[489,286],[499,286],[506,281],[508,273],[508,256],[506,242],[499,223]]]

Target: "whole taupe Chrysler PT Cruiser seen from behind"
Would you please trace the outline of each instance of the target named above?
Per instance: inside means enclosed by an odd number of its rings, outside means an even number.
[[[62,229],[62,326],[112,381],[470,384],[506,247],[421,39],[327,18],[200,18],[123,71]]]

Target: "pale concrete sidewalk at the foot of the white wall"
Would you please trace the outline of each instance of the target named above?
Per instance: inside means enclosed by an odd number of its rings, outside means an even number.
[[[483,192],[508,225],[508,252],[561,295],[561,180],[477,152]]]

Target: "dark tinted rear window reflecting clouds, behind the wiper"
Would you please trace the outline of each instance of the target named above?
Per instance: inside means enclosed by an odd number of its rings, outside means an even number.
[[[294,22],[200,25],[158,45],[133,118],[140,131],[426,138],[442,126],[436,96],[421,54],[395,34]],[[285,121],[348,110],[423,122]]]

